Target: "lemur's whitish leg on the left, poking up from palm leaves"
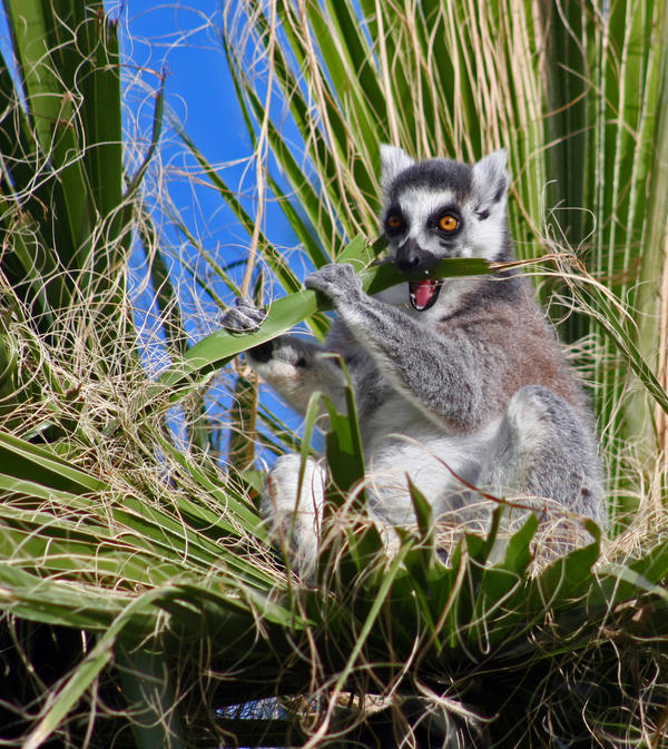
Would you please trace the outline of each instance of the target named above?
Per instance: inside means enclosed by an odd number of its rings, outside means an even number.
[[[318,554],[321,512],[327,474],[322,463],[299,455],[282,455],[266,479],[262,514],[269,535],[282,549],[293,569],[302,576],[312,576]]]

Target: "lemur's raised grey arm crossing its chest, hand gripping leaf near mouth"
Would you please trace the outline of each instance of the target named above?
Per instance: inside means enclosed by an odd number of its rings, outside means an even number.
[[[351,265],[327,265],[305,285],[332,299],[340,317],[394,386],[432,421],[454,426],[484,416],[480,356],[364,293]]]

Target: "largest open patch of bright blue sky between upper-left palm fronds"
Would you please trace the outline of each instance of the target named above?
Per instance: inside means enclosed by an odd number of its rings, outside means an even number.
[[[226,183],[237,188],[252,154],[242,112],[236,102],[232,78],[219,40],[223,2],[195,0],[150,2],[126,0],[121,6],[121,39],[126,59],[144,69],[143,79],[150,86],[156,73],[166,73],[166,101],[185,125],[188,136],[209,162],[220,165]],[[125,32],[124,32],[125,29]],[[134,69],[128,69],[134,75]],[[131,105],[137,105],[132,98]],[[141,125],[150,128],[153,102],[140,107]],[[174,174],[186,161],[184,147],[167,129],[163,159]],[[193,161],[189,160],[190,168]],[[230,165],[223,168],[223,165]],[[243,188],[252,188],[253,168]],[[242,257],[247,236],[239,228],[222,198],[210,188],[193,180],[169,179],[169,193],[188,226],[218,255]],[[247,204],[252,210],[252,205]],[[294,244],[294,235],[276,211],[269,211],[268,234],[278,244]]]

